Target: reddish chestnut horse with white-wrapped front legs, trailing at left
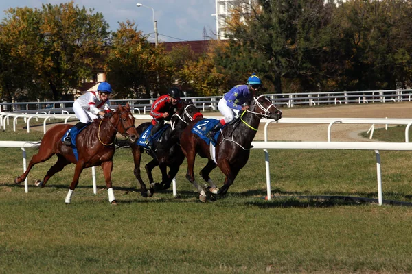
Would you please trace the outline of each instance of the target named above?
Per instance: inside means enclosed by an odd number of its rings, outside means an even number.
[[[70,184],[65,200],[66,203],[70,203],[71,195],[73,195],[73,190],[78,185],[83,169],[91,166],[102,166],[108,192],[108,201],[115,204],[116,199],[111,182],[112,159],[115,154],[115,136],[119,132],[130,138],[130,142],[135,142],[137,138],[135,118],[130,112],[130,106],[128,103],[125,106],[119,105],[110,117],[96,119],[78,134],[76,137],[78,160],[76,160],[72,147],[63,145],[61,141],[62,136],[65,135],[70,127],[72,125],[60,124],[49,129],[41,140],[38,153],[33,155],[32,160],[30,160],[27,170],[23,175],[14,179],[14,183],[20,184],[23,182],[35,164],[45,162],[56,154],[56,164],[47,171],[39,186],[45,186],[50,177],[61,171],[68,164],[76,164],[73,181]]]

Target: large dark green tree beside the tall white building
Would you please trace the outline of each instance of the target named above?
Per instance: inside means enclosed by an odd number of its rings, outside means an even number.
[[[282,77],[316,86],[324,51],[323,27],[330,21],[323,0],[257,2],[245,1],[227,21],[237,69],[257,72],[277,93],[282,93]]]

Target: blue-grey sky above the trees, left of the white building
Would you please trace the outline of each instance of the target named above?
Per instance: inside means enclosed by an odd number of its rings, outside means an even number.
[[[41,8],[43,3],[66,3],[62,0],[0,0],[1,21],[8,8]],[[203,40],[203,28],[207,35],[216,38],[215,0],[73,0],[80,8],[94,8],[101,12],[115,31],[126,20],[135,21],[137,29],[150,34],[155,41],[153,10],[159,34],[159,42]],[[147,7],[137,7],[141,3]],[[153,8],[153,10],[151,9]]]

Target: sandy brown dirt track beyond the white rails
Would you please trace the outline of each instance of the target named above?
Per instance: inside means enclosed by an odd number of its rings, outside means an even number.
[[[220,116],[219,112],[205,113],[205,116]],[[412,103],[375,103],[362,105],[332,105],[321,107],[282,108],[284,118],[411,118]],[[144,123],[137,120],[136,125]],[[50,125],[53,126],[53,125]],[[332,141],[335,142],[371,142],[369,138],[359,136],[367,132],[371,125],[340,125],[332,126]],[[375,128],[385,125],[375,125]],[[43,131],[43,126],[33,127]],[[327,141],[328,124],[286,124],[272,123],[268,128],[268,139],[277,141]],[[264,140],[264,127],[256,134],[255,140]]]

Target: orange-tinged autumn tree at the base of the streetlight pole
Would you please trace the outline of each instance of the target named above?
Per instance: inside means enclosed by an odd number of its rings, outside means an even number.
[[[126,21],[113,33],[105,68],[117,97],[141,98],[167,90],[172,83],[170,62],[161,45],[152,45],[134,22]]]

